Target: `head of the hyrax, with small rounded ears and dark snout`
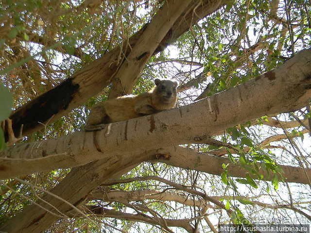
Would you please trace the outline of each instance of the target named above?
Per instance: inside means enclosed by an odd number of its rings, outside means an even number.
[[[172,80],[159,80],[155,79],[155,94],[161,99],[163,103],[170,103],[176,101],[176,88],[177,82]]]

